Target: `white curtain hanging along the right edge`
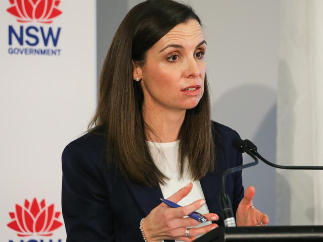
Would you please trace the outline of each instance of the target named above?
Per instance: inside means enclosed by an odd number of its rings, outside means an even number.
[[[280,1],[277,163],[323,166],[323,1]],[[277,225],[323,224],[323,171],[277,170]]]

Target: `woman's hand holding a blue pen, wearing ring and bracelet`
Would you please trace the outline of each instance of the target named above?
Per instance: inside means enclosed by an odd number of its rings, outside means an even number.
[[[192,186],[193,185],[190,182],[167,199],[177,203],[191,191]],[[147,241],[160,242],[161,240],[179,240],[190,242],[196,240],[197,236],[217,228],[217,224],[210,224],[199,228],[191,228],[189,231],[191,238],[189,239],[186,237],[185,231],[187,227],[197,226],[200,224],[200,222],[190,217],[183,217],[196,211],[204,204],[205,200],[200,199],[183,207],[170,208],[162,202],[150,212],[142,223],[142,228]],[[215,221],[219,219],[219,216],[215,213],[203,215],[208,221]]]

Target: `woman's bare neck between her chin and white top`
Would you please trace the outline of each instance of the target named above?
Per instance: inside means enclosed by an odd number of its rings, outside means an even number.
[[[149,141],[167,143],[178,140],[178,133],[185,118],[185,110],[166,110],[160,107],[147,107],[143,104],[142,112],[149,126],[145,130]]]

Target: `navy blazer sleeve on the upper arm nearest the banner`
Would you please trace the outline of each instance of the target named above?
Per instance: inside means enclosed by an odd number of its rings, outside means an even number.
[[[62,154],[66,242],[113,242],[113,221],[102,169],[73,142]]]

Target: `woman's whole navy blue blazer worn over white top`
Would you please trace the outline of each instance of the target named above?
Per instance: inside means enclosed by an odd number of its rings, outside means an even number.
[[[212,122],[220,147],[217,171],[200,180],[210,213],[220,216],[219,204],[222,172],[242,164],[242,154],[231,145],[238,133]],[[62,210],[67,242],[143,242],[140,220],[158,206],[163,197],[160,187],[127,182],[119,172],[108,168],[102,135],[87,133],[74,140],[63,151]],[[241,172],[227,177],[234,213],[243,197]]]

